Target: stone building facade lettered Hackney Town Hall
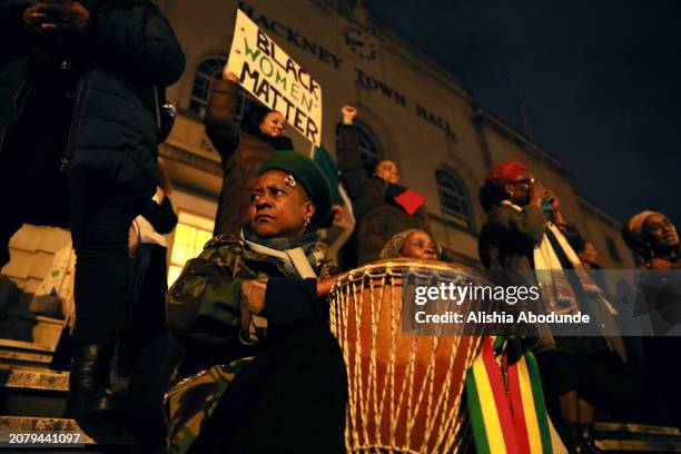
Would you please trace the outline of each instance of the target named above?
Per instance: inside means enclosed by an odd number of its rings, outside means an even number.
[[[322,141],[332,155],[340,107],[357,107],[364,152],[394,160],[403,184],[426,197],[433,233],[457,261],[480,264],[477,233],[485,214],[477,191],[486,169],[521,160],[560,197],[565,219],[595,244],[603,267],[634,266],[620,235],[621,223],[580,196],[560,159],[480,107],[454,75],[372,18],[362,2],[157,3],[187,56],[182,78],[168,90],[180,115],[160,149],[176,187],[171,198],[180,221],[168,238],[170,280],[213,231],[221,170],[201,117],[211,80],[227,59],[237,8],[322,85]],[[293,128],[287,134],[297,150],[309,150],[309,142]],[[26,226],[12,239],[12,261],[2,274],[26,293],[37,288],[55,250],[67,243],[55,230]]]

